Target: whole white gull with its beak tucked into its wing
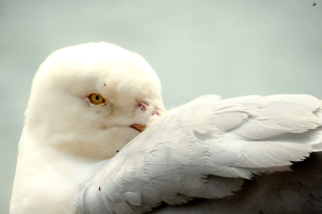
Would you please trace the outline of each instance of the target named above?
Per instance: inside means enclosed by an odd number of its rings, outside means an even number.
[[[322,211],[310,95],[206,95],[167,112],[149,64],[101,42],[52,53],[25,116],[11,213]]]

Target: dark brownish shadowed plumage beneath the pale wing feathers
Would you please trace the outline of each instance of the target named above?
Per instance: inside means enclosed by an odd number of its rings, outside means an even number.
[[[229,197],[198,198],[176,206],[162,204],[148,213],[321,213],[322,152],[312,153],[291,168],[246,180],[243,188]]]

